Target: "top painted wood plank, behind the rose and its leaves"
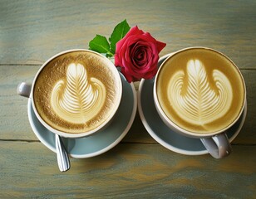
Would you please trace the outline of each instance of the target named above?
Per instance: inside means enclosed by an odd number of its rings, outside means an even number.
[[[0,2],[0,64],[37,64],[96,34],[110,36],[127,19],[167,46],[161,55],[209,46],[239,67],[255,67],[256,2],[8,1]]]

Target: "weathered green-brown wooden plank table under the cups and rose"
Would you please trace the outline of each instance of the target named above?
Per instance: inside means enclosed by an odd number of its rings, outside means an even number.
[[[248,115],[234,152],[221,160],[187,156],[156,143],[137,114],[115,148],[71,158],[59,172],[40,143],[17,84],[31,82],[44,61],[110,36],[118,22],[167,43],[164,56],[189,46],[222,51],[241,69]],[[9,1],[0,2],[0,198],[256,198],[256,2]]]

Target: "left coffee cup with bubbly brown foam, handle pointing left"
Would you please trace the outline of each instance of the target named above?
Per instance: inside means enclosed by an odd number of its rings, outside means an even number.
[[[105,56],[74,49],[52,56],[32,85],[22,82],[17,93],[31,99],[37,119],[52,133],[81,138],[111,124],[121,103],[122,83]]]

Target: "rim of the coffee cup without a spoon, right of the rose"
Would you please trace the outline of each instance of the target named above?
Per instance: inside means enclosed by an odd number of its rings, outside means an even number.
[[[165,114],[165,112],[163,111],[163,109],[160,106],[160,102],[158,100],[158,97],[156,95],[156,82],[158,80],[158,76],[160,74],[160,70],[163,68],[163,66],[165,65],[165,62],[169,61],[173,56],[179,54],[180,52],[183,51],[189,51],[189,50],[195,50],[195,49],[199,49],[199,50],[207,50],[207,51],[214,51],[215,53],[218,53],[220,56],[223,56],[225,59],[227,59],[229,62],[232,63],[232,65],[234,66],[234,68],[238,71],[239,76],[242,80],[242,84],[243,84],[243,88],[244,88],[244,99],[243,99],[243,103],[242,106],[239,110],[239,114],[237,115],[237,117],[232,121],[232,123],[230,123],[229,125],[227,125],[224,129],[219,129],[218,131],[214,131],[211,133],[197,133],[197,132],[193,132],[193,131],[189,131],[186,129],[181,128],[178,124],[175,124],[175,122],[173,122],[171,119],[169,119],[167,117],[167,115]],[[232,125],[234,125],[239,117],[241,116],[241,114],[243,114],[244,111],[244,106],[246,104],[246,86],[245,86],[245,81],[244,81],[244,77],[241,73],[241,71],[239,70],[239,67],[236,66],[236,64],[234,63],[234,61],[232,61],[228,56],[225,56],[224,53],[214,50],[212,48],[209,47],[204,47],[204,46],[192,46],[192,47],[187,47],[187,48],[183,48],[179,51],[175,51],[173,54],[171,54],[170,56],[168,56],[165,61],[163,61],[163,63],[160,65],[156,75],[155,75],[155,82],[154,82],[154,87],[153,87],[153,95],[154,95],[154,102],[155,102],[155,107],[157,109],[157,112],[160,114],[160,118],[165,122],[165,124],[167,124],[169,127],[172,127],[174,129],[176,129],[176,131],[178,131],[179,133],[183,133],[187,136],[190,136],[192,138],[207,138],[207,137],[212,137],[214,135],[217,135],[219,133],[224,133],[224,131],[226,131],[227,129],[229,129]]]

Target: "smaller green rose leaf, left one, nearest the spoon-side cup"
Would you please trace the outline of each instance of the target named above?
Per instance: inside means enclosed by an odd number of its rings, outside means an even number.
[[[89,49],[99,53],[106,53],[111,55],[110,44],[105,36],[96,35],[93,40],[89,42]]]

